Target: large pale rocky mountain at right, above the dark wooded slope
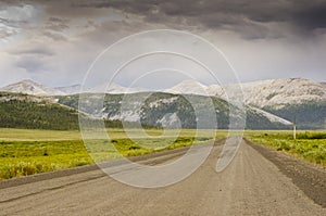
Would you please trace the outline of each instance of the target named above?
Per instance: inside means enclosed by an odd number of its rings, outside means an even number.
[[[211,86],[208,91],[222,98],[226,98],[225,92],[229,98],[239,97],[235,88],[239,86]],[[247,82],[241,88],[244,103],[256,107],[283,107],[286,104],[326,100],[326,85],[301,78]]]

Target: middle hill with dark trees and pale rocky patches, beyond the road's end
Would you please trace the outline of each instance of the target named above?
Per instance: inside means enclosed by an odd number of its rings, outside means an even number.
[[[198,124],[198,113],[201,120],[205,122],[202,128],[214,128],[216,125],[211,122],[216,117],[217,127],[228,128],[229,114],[241,128],[243,120],[247,120],[248,129],[286,129],[289,128],[289,122],[277,117],[260,109],[246,106],[240,110],[218,97],[171,94],[171,93],[133,93],[133,94],[108,94],[104,98],[103,109],[93,109],[93,102],[98,94],[85,94],[85,101],[82,110],[92,116],[110,120],[138,122],[148,126],[178,127],[179,124],[185,128],[196,128]],[[126,98],[125,98],[126,97]],[[59,98],[59,103],[78,109],[78,96],[67,96]],[[191,99],[191,103],[189,101]],[[212,106],[213,105],[213,106]],[[193,107],[197,107],[195,111]],[[208,107],[215,112],[208,111]],[[230,107],[234,111],[229,113]],[[80,106],[79,106],[80,109]]]

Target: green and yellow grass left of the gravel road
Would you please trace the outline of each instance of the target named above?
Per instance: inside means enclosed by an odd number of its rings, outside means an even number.
[[[79,131],[1,129],[0,128],[0,179],[52,171],[96,162],[136,156],[158,151],[172,150],[209,141],[209,134],[183,129],[177,139],[162,136],[162,130],[148,129],[143,138],[139,130],[128,135],[123,129],[108,129],[108,140],[90,140],[85,147]],[[218,131],[216,138],[226,136]],[[113,145],[114,147],[113,147]],[[116,150],[118,152],[116,152]]]

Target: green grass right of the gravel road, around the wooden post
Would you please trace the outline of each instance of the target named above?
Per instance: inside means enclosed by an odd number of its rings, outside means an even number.
[[[325,131],[299,131],[296,140],[292,131],[246,131],[246,137],[254,143],[326,166]]]

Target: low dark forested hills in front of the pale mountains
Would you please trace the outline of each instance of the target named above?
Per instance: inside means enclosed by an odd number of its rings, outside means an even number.
[[[197,115],[181,94],[153,93],[147,98],[145,105],[137,111],[139,99],[145,99],[147,93],[128,94],[130,100],[126,101],[126,110],[122,109],[124,94],[105,94],[103,109],[92,110],[93,100],[98,99],[97,93],[87,93],[89,109],[78,107],[79,96],[60,96],[60,97],[36,97],[22,93],[0,92],[0,127],[9,128],[29,128],[29,129],[78,129],[78,114],[84,120],[93,123],[104,120],[106,126],[122,127],[122,120],[135,127],[137,118],[141,119],[141,125],[149,127],[174,128],[177,125],[183,128],[197,128]],[[188,96],[197,101],[197,106],[201,112],[205,112],[205,101],[212,100],[216,112],[216,123],[218,129],[227,129],[229,126],[229,106],[223,99],[203,96]],[[237,107],[234,118],[241,123],[242,115]],[[213,113],[214,114],[214,113]],[[211,114],[204,116],[205,119],[212,119]],[[264,114],[261,111],[248,109],[246,125],[247,129],[286,129],[287,124],[284,119],[272,114]],[[276,120],[275,120],[276,119]],[[209,123],[210,120],[208,120]],[[204,120],[206,123],[206,120]],[[216,125],[204,124],[204,128],[215,128]]]

